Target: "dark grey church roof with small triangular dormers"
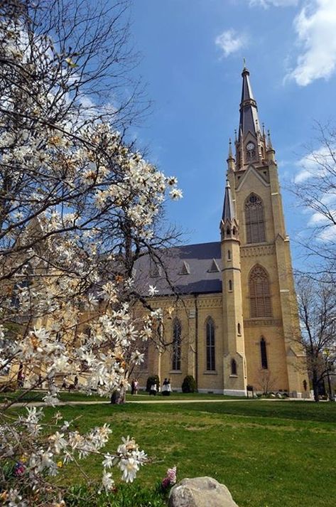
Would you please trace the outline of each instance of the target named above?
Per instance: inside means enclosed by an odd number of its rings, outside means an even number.
[[[136,261],[136,286],[146,293],[149,285],[156,287],[156,295],[210,294],[222,292],[222,259],[220,242],[198,243],[168,248],[160,255],[164,269],[151,269],[148,255]],[[164,271],[168,273],[170,284]],[[154,276],[153,276],[154,275]]]

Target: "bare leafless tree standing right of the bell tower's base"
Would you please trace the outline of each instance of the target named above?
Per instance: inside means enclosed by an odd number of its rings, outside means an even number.
[[[301,275],[297,279],[298,311],[307,355],[308,374],[314,399],[319,386],[335,375],[336,365],[336,287],[330,279],[316,280]],[[299,339],[299,337],[298,337]],[[330,400],[332,400],[330,393]]]

